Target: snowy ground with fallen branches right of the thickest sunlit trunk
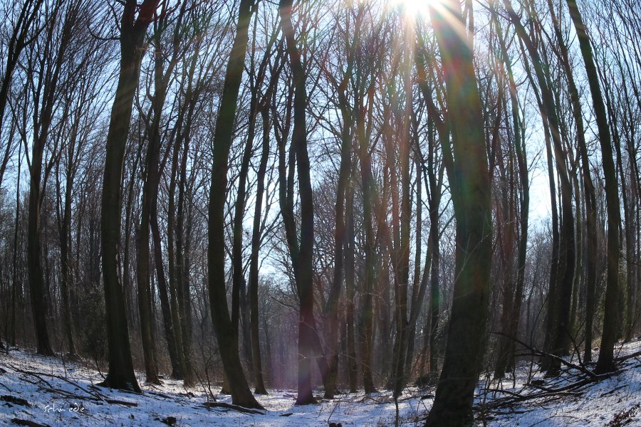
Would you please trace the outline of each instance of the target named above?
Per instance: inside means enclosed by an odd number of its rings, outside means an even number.
[[[594,359],[597,357],[598,352]],[[491,399],[514,401],[514,405],[494,408],[494,413],[488,414],[493,418],[487,421],[488,426],[641,426],[640,339],[615,349],[615,358],[625,357],[629,358],[620,362],[618,371],[589,382],[577,369],[565,371],[556,379],[545,379],[541,371],[536,371],[536,365],[520,364],[516,381],[511,377],[501,385],[481,381],[483,392],[476,403],[491,406]],[[570,362],[578,364],[577,359]],[[594,364],[589,367],[593,369]],[[581,381],[588,384],[575,387]],[[560,389],[565,391],[559,393]],[[528,394],[540,397],[518,401]],[[479,418],[482,420],[482,416]]]

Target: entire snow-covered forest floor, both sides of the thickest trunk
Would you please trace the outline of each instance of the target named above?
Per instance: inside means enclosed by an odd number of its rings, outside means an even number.
[[[595,380],[580,369],[544,379],[536,364],[521,362],[500,384],[481,378],[475,413],[479,426],[641,426],[641,340],[617,347],[620,369]],[[577,363],[576,360],[570,360]],[[182,381],[142,384],[143,394],[95,386],[98,371],[85,363],[14,349],[0,354],[0,425],[24,426],[394,426],[391,392],[342,394],[317,405],[294,406],[296,391],[256,396],[266,411],[244,413],[212,406],[207,386],[185,390]],[[212,391],[219,388],[212,386]],[[319,393],[322,395],[322,393]],[[409,387],[399,399],[399,423],[422,426],[434,389]],[[208,399],[209,396],[209,399]],[[231,404],[216,395],[217,404]],[[209,404],[208,404],[209,402]],[[332,423],[332,424],[330,424]]]

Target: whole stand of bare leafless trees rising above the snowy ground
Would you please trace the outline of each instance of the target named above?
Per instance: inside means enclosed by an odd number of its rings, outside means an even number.
[[[612,371],[641,330],[636,6],[3,1],[3,351],[253,408],[438,384],[437,426],[523,350]]]

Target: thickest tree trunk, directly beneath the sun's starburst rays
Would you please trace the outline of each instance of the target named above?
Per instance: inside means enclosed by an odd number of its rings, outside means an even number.
[[[491,260],[491,203],[481,99],[476,85],[472,50],[464,33],[457,0],[445,9],[431,8],[439,44],[452,129],[454,215],[457,249],[454,300],[447,347],[436,398],[427,426],[471,423],[474,388],[481,371],[489,295]],[[449,171],[448,171],[449,172]]]

